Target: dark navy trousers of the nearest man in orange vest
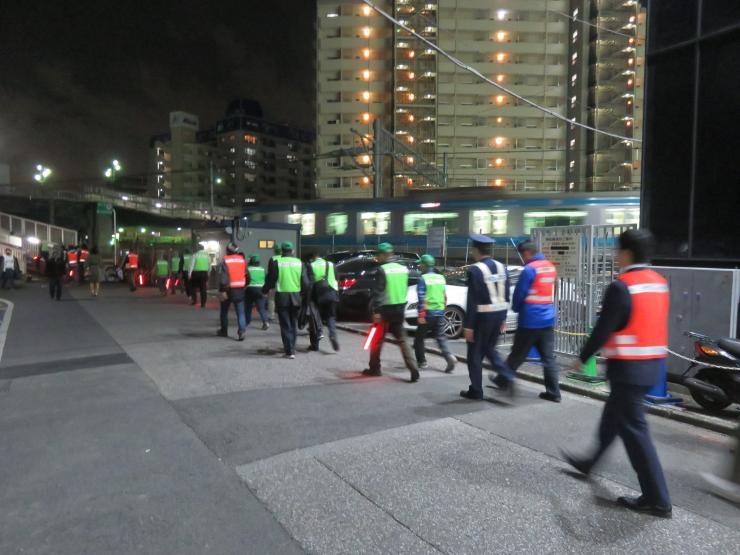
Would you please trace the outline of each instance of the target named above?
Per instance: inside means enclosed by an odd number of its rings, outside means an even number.
[[[659,507],[669,507],[668,486],[645,420],[645,395],[650,386],[610,382],[609,387],[599,423],[599,442],[590,465],[599,461],[617,436],[621,437],[643,497]]]

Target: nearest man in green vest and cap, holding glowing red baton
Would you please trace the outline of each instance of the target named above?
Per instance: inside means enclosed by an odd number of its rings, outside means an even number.
[[[380,268],[375,277],[375,289],[370,302],[373,312],[375,333],[370,346],[370,368],[362,373],[366,376],[380,376],[380,351],[383,348],[385,334],[390,332],[401,347],[401,354],[406,367],[411,372],[411,382],[419,381],[419,369],[406,342],[406,331],[403,329],[406,295],[409,288],[408,267],[393,262],[393,245],[378,245],[378,262]]]

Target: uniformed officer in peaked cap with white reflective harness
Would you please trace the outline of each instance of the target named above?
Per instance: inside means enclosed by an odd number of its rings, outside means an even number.
[[[491,258],[493,239],[471,235],[470,240],[475,264],[468,268],[468,300],[463,320],[470,386],[460,392],[460,397],[478,401],[483,399],[483,358],[496,365],[496,342],[506,326],[509,273],[503,264]],[[510,378],[507,388],[513,394]]]

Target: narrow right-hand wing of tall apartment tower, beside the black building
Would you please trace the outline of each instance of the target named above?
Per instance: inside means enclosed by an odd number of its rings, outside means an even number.
[[[571,0],[566,190],[640,188],[645,9],[637,0]],[[629,140],[630,138],[635,140]]]

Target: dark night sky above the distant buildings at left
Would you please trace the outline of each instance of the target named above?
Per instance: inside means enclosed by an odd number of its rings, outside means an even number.
[[[209,126],[237,97],[311,128],[314,18],[313,0],[0,0],[0,162],[16,183],[38,162],[145,172],[170,111]]]

